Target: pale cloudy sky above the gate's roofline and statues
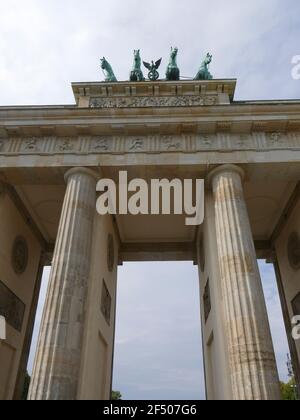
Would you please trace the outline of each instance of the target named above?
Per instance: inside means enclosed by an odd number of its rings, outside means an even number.
[[[291,58],[300,53],[300,5],[292,0],[1,3],[2,105],[72,103],[70,82],[100,80],[103,55],[128,79],[134,48],[147,60],[163,57],[163,77],[171,45],[191,77],[210,50],[214,75],[238,78],[237,98],[299,96]]]

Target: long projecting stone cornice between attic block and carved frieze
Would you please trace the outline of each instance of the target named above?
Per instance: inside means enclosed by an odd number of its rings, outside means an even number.
[[[0,109],[0,138],[16,136],[78,136],[115,134],[216,134],[300,131],[300,103],[286,109],[275,106],[261,112],[239,107],[203,107],[115,110],[10,110]],[[208,109],[210,108],[210,109]]]

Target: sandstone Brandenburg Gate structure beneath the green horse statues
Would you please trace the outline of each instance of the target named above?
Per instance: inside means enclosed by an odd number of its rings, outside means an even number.
[[[299,381],[300,101],[239,102],[235,87],[74,83],[76,105],[0,108],[0,399],[20,398],[50,263],[31,400],[110,398],[117,271],[128,261],[198,265],[210,400],[280,399],[257,259],[273,263]],[[122,170],[204,179],[204,223],[100,216],[96,183]]]

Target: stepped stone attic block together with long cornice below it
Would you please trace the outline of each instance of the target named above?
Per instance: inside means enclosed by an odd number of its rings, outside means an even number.
[[[300,100],[234,102],[235,87],[235,79],[73,83],[77,105],[0,107],[0,138],[300,131]]]

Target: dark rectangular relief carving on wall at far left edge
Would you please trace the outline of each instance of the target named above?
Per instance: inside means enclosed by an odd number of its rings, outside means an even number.
[[[25,304],[0,281],[0,315],[19,332],[22,331],[25,308]]]

